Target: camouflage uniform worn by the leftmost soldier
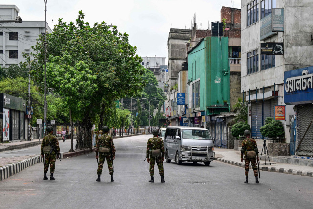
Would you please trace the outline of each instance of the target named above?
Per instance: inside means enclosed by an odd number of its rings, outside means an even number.
[[[48,134],[44,137],[43,142],[41,143],[40,147],[40,153],[41,155],[44,155],[44,147],[49,146],[49,139],[51,142],[51,146],[54,145],[56,151],[60,153],[60,147],[59,147],[59,141],[56,136],[53,136],[52,134]],[[44,173],[48,172],[49,165],[50,165],[50,173],[54,173],[55,169],[55,159],[56,159],[56,153],[52,149],[51,153],[45,153],[45,167],[44,167]]]

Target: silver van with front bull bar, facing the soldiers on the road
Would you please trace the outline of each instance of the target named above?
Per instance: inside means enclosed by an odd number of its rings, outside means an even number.
[[[169,126],[164,136],[166,162],[203,162],[208,166],[215,156],[214,140],[205,128]]]

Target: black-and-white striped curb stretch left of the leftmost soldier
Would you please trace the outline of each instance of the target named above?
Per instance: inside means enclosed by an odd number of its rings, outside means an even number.
[[[3,167],[0,167],[0,181],[7,179],[10,176],[13,176],[16,173],[21,172],[25,168],[32,166],[34,164],[43,162],[43,158],[38,155],[34,156],[32,158],[28,158],[26,160],[17,162],[17,163],[12,163]]]

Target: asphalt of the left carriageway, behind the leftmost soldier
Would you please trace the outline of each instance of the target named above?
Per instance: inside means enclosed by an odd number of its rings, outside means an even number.
[[[73,142],[74,142],[73,147],[75,149],[76,139],[74,139]],[[60,152],[68,152],[70,150],[69,139],[65,140],[65,142],[63,142],[63,140],[59,140],[59,144],[60,144]],[[24,155],[34,155],[34,154],[40,155],[40,146],[41,145],[37,145],[34,147],[28,147],[25,149],[14,149],[14,150],[8,150],[5,152],[0,152],[0,157],[15,157],[15,156],[24,156]]]

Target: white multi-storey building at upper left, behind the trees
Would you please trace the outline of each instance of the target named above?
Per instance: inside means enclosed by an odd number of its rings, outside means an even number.
[[[0,5],[0,19],[14,20],[20,10],[15,5]],[[36,39],[45,32],[45,21],[0,24],[0,66],[8,67],[25,61],[22,53],[29,54]],[[47,25],[47,32],[51,32]]]

